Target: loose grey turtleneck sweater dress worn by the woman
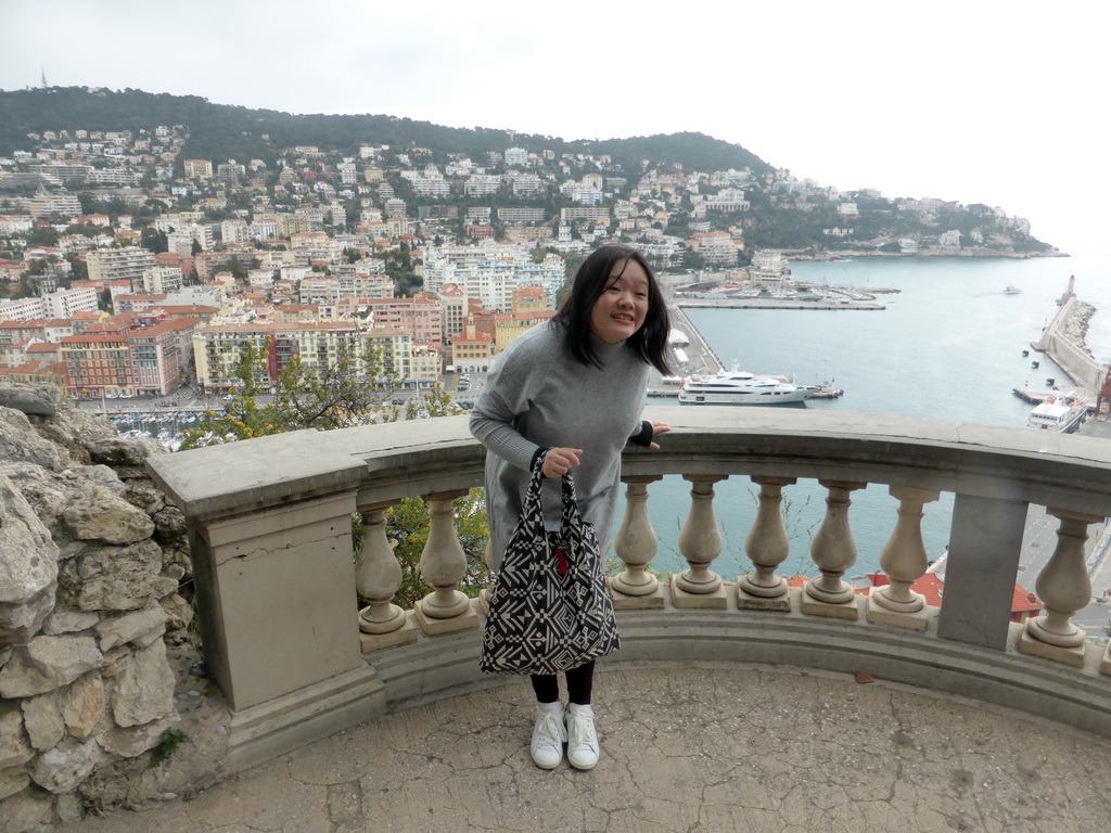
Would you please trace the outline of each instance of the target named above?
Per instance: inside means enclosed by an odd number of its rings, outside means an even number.
[[[591,337],[594,338],[594,337]],[[487,513],[493,565],[521,514],[529,464],[539,448],[582,449],[571,470],[583,520],[594,525],[604,555],[620,496],[621,450],[641,433],[649,365],[625,342],[594,338],[601,368],[565,351],[558,324],[520,335],[501,355],[471,412],[471,433],[486,445]],[[544,523],[560,525],[560,480],[543,485]]]

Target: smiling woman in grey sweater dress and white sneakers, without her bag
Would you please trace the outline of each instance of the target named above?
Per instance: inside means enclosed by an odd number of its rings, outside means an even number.
[[[543,458],[544,523],[560,525],[560,481],[574,470],[583,520],[609,542],[621,481],[621,450],[632,441],[658,449],[662,422],[641,422],[649,367],[668,375],[668,311],[643,255],[604,245],[579,268],[571,294],[548,324],[519,337],[494,365],[471,413],[471,433],[487,454],[487,511],[494,570],[521,514],[532,464]],[[567,672],[568,707],[559,681],[533,675],[538,701],[532,760],[559,765],[563,742],[572,766],[598,762],[591,709],[594,663]]]

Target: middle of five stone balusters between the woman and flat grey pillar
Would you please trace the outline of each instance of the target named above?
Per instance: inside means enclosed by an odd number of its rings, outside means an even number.
[[[744,552],[755,570],[737,578],[737,606],[750,610],[791,610],[787,579],[775,568],[787,560],[791,540],[783,526],[780,504],[783,486],[794,485],[795,478],[752,476],[760,486],[757,520],[744,539]]]

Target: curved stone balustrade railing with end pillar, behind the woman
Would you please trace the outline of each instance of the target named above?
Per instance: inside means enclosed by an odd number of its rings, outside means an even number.
[[[1111,444],[1020,429],[795,409],[657,408],[672,424],[658,452],[625,454],[627,512],[612,580],[622,650],[605,662],[769,662],[863,671],[977,697],[1111,735],[1111,662],[1073,614],[1091,596],[1083,546],[1111,515]],[[346,725],[496,685],[478,671],[482,601],[461,591],[466,561],[451,501],[481,484],[483,450],[466,418],[268,436],[154,458],[156,481],[189,520],[209,668],[233,710],[231,765],[243,767]],[[663,586],[645,499],[665,474],[691,483]],[[714,485],[759,486],[744,542],[752,570],[718,575]],[[779,502],[802,479],[828,493],[811,545],[820,578],[788,588]],[[852,493],[891,494],[880,563],[890,584],[858,596]],[[943,602],[910,585],[927,566],[923,506],[954,494]],[[421,571],[432,592],[393,604],[400,570],[383,512],[424,495]],[[1037,593],[1045,613],[1010,621],[1030,504],[1059,519]],[[363,516],[353,566],[351,514]],[[358,593],[370,600],[357,609]]]

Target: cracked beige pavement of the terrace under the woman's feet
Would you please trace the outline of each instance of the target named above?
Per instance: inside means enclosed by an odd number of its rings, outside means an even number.
[[[1108,829],[1111,741],[910,686],[767,665],[599,668],[601,760],[536,767],[527,681],[317,741],[73,833]]]

